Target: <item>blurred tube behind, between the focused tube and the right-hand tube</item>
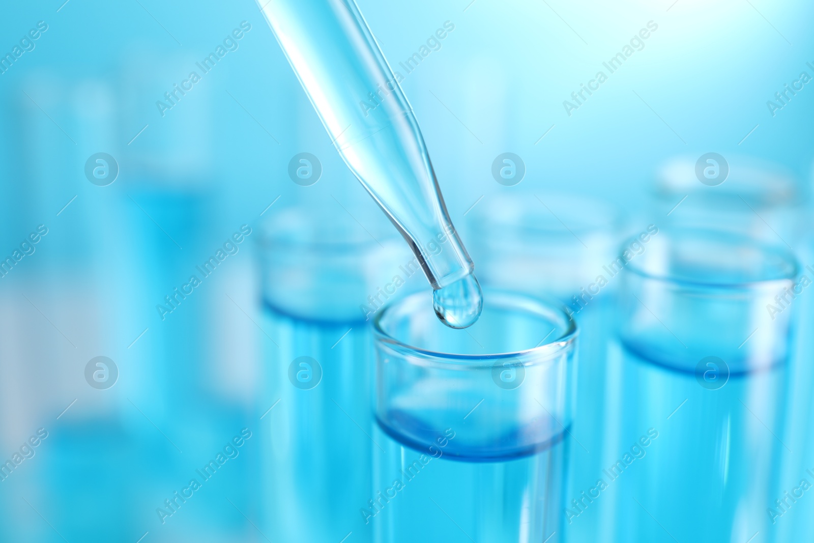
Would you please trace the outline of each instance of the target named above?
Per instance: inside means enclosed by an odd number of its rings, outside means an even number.
[[[577,195],[488,195],[468,222],[472,255],[484,287],[533,296],[556,296],[580,326],[580,364],[567,462],[567,496],[596,482],[612,443],[606,432],[618,416],[619,398],[609,389],[619,376],[606,364],[614,331],[618,278],[603,266],[614,262],[621,241],[619,217],[609,204]],[[646,230],[646,226],[641,226]],[[569,541],[602,541],[602,505],[563,526]]]

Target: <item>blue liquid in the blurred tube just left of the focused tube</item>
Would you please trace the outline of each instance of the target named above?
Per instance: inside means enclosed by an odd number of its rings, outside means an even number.
[[[263,410],[279,400],[260,421],[263,532],[271,541],[340,541],[353,531],[352,541],[370,541],[357,527],[358,508],[370,497],[374,447],[369,326],[308,321],[268,306],[262,326],[279,345],[263,336]],[[310,389],[289,377],[291,362],[303,356],[322,370]]]

